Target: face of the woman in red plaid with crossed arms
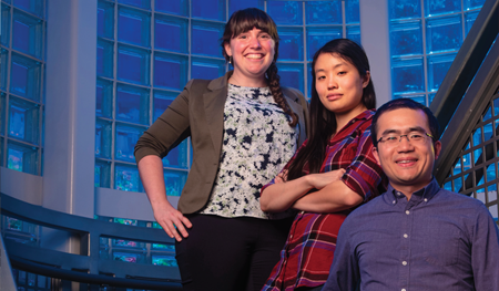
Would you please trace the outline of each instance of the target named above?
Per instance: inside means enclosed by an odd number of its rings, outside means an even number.
[[[364,112],[363,90],[369,83],[369,72],[363,77],[350,62],[337,54],[323,53],[315,63],[315,89],[323,105],[336,118],[349,121]]]

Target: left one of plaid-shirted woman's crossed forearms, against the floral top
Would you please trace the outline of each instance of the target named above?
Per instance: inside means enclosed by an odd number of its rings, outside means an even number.
[[[266,212],[284,211],[313,188],[307,176],[273,184],[263,190],[259,197],[259,207]]]

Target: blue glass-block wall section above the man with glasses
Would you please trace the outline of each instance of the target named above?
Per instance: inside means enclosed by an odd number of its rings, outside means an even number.
[[[431,103],[483,2],[388,1],[394,97]]]

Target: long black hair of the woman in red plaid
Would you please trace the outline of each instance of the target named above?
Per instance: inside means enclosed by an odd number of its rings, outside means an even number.
[[[324,158],[326,157],[326,148],[329,138],[336,133],[336,116],[334,112],[328,111],[318,96],[315,89],[316,75],[315,64],[320,54],[333,54],[339,56],[345,61],[352,63],[358,71],[360,77],[366,76],[369,70],[369,61],[367,60],[364,49],[348,39],[337,39],[324,44],[315,54],[312,61],[312,97],[309,108],[309,124],[310,132],[307,139],[307,145],[299,150],[293,163],[289,165],[287,179],[296,179],[305,174],[304,166],[308,164],[309,174],[319,173]],[[373,79],[363,90],[363,97],[360,101],[366,108],[376,108],[376,93],[374,90]]]

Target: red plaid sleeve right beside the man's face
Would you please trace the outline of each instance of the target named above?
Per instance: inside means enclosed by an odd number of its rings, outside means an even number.
[[[364,127],[364,131],[361,131]],[[361,195],[367,201],[378,196],[378,185],[381,183],[384,173],[373,155],[373,141],[370,139],[370,119],[359,126],[361,134],[357,150],[352,164],[346,167],[342,180],[355,193]]]

